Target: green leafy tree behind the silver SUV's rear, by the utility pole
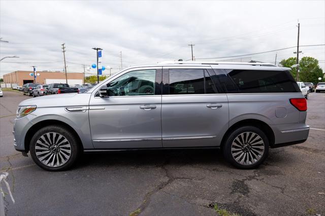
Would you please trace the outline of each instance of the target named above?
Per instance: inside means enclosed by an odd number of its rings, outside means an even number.
[[[296,57],[290,57],[288,59],[283,59],[280,64],[284,67],[291,67],[292,65],[297,63]],[[313,83],[317,84],[318,82],[322,82],[323,71],[318,65],[318,60],[313,57],[305,56],[299,61],[299,81],[305,83]],[[291,75],[296,79],[297,76],[297,68],[291,68]],[[321,81],[318,78],[322,78]]]

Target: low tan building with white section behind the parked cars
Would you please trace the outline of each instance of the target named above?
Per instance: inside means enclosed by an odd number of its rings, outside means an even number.
[[[22,86],[26,83],[34,83],[34,78],[29,74],[33,71],[17,70],[4,75],[4,83],[18,84]],[[50,83],[66,83],[66,74],[63,72],[50,72],[50,71],[36,71],[40,74],[35,80],[36,83],[50,84]],[[82,84],[84,80],[83,73],[67,73],[68,84]]]

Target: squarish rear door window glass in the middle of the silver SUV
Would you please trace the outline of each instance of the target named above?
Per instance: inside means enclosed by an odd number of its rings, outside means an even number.
[[[169,94],[204,94],[203,69],[169,69]]]

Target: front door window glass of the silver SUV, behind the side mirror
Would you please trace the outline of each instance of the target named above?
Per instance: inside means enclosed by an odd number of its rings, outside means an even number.
[[[154,95],[155,78],[155,69],[130,71],[107,84],[109,95]]]

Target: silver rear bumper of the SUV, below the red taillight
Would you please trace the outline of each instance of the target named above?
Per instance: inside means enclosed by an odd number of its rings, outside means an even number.
[[[306,124],[283,124],[271,127],[275,136],[273,148],[302,143],[307,140],[309,134],[309,126]]]

